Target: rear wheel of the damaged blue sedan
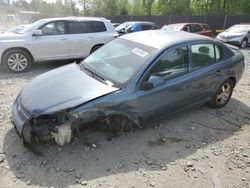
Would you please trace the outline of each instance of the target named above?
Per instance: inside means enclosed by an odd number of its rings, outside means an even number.
[[[213,108],[222,108],[230,100],[233,93],[234,83],[231,79],[225,80],[214,95],[209,105]]]

